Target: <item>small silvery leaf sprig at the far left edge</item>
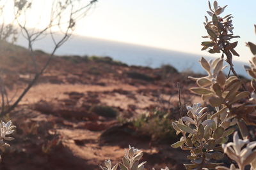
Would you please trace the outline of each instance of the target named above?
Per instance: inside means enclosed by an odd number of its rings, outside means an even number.
[[[14,138],[8,136],[12,134],[15,131],[15,125],[12,125],[12,121],[10,120],[7,123],[4,123],[3,121],[0,122],[0,147],[3,146],[9,146],[6,141],[12,141]],[[1,159],[1,155],[0,155]]]

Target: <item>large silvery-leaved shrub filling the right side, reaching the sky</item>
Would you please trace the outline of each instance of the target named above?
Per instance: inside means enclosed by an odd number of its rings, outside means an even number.
[[[191,153],[188,159],[191,164],[185,164],[186,169],[227,169],[220,167],[225,153],[237,162],[239,169],[249,165],[255,169],[256,157],[252,151],[254,142],[249,143],[247,125],[256,125],[256,95],[249,92],[244,83],[238,78],[232,64],[232,56],[238,55],[236,50],[237,41],[230,42],[234,36],[231,15],[221,17],[227,6],[220,7],[214,1],[213,7],[209,3],[211,20],[205,17],[205,29],[210,41],[202,42],[202,50],[208,49],[209,53],[221,53],[220,59],[205,60],[203,57],[200,64],[207,72],[207,76],[200,78],[189,77],[195,80],[198,87],[191,88],[191,92],[202,97],[204,102],[209,103],[215,111],[212,113],[207,108],[202,108],[199,103],[187,106],[187,116],[173,122],[173,128],[177,134],[182,134],[180,141],[172,147],[180,147],[182,150],[189,150]],[[256,26],[255,26],[256,30]],[[253,55],[256,55],[256,45],[247,43]],[[223,73],[224,59],[227,61],[230,70],[228,75]],[[256,56],[250,61],[251,66],[246,66],[246,71],[252,76],[252,88],[255,90],[256,78]],[[231,75],[233,73],[233,75]],[[237,127],[243,136],[238,139],[237,132],[234,134],[234,143],[227,143],[228,136],[236,131]],[[248,143],[244,150],[238,150],[243,144]],[[231,147],[231,148],[230,148]],[[232,154],[232,151],[236,153]],[[217,161],[218,160],[218,161]],[[220,163],[218,163],[220,162]],[[235,165],[230,169],[236,169]]]

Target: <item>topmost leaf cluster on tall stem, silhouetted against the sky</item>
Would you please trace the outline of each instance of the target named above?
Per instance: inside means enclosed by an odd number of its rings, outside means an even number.
[[[208,36],[203,36],[203,38],[210,38],[209,41],[203,41],[201,45],[203,46],[202,50],[209,49],[209,53],[222,53],[221,58],[224,57],[224,54],[227,56],[227,62],[232,65],[232,55],[239,56],[239,54],[234,50],[237,46],[237,41],[231,43],[230,40],[233,38],[239,38],[239,36],[234,36],[233,34],[233,24],[232,24],[232,15],[226,15],[221,17],[221,13],[225,10],[226,6],[218,6],[217,1],[214,1],[213,8],[209,2],[209,10],[207,11],[208,15],[211,17],[209,20],[205,16],[204,26],[208,33]]]

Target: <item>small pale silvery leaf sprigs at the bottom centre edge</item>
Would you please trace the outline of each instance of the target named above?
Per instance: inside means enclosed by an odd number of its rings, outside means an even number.
[[[143,156],[143,153],[141,150],[138,150],[134,147],[131,147],[129,145],[129,150],[125,149],[124,152],[124,157],[122,159],[122,162],[115,164],[115,166],[112,167],[111,164],[111,160],[105,160],[105,166],[106,167],[102,167],[100,166],[100,168],[102,170],[144,170],[144,164],[146,162],[141,162],[140,163],[140,159]],[[154,168],[152,170],[155,170]],[[161,169],[161,170],[169,170],[168,167],[165,167],[165,169]]]

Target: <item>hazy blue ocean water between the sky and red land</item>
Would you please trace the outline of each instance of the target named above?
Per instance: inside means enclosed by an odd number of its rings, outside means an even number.
[[[24,38],[19,38],[18,45],[26,46]],[[52,40],[46,37],[35,43],[34,49],[40,49],[44,52],[51,52]],[[194,71],[195,73],[206,73],[200,66],[198,60],[202,56],[172,50],[163,50],[148,46],[132,45],[120,43],[117,41],[108,41],[103,39],[74,36],[61,46],[56,54],[58,55],[99,55],[109,56],[128,65],[161,67],[163,64],[170,64],[178,71]],[[205,57],[211,59],[211,57]],[[234,66],[238,74],[248,76],[244,71],[244,62],[234,61]],[[228,68],[226,68],[226,73]]]

